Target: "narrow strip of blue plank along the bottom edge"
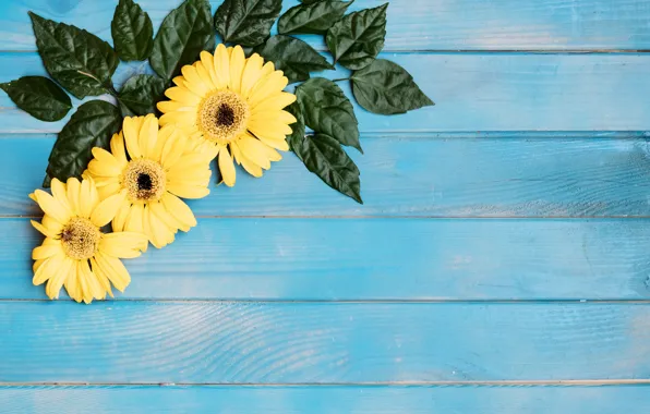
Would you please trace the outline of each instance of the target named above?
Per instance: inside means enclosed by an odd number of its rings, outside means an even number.
[[[5,414],[543,414],[638,412],[648,386],[0,387]]]

